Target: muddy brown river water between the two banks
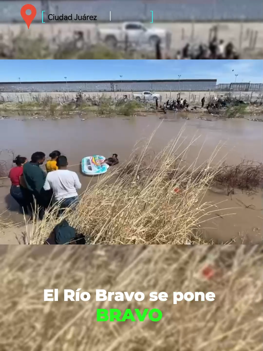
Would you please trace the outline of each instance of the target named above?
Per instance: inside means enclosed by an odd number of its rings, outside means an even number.
[[[68,158],[69,165],[80,163],[85,156],[101,154],[110,156],[119,155],[120,163],[125,161],[136,142],[148,139],[151,133],[156,133],[151,140],[150,148],[155,152],[161,151],[170,140],[175,139],[182,128],[180,151],[189,145],[193,138],[198,139],[189,148],[184,159],[193,162],[198,157],[198,163],[207,160],[218,144],[215,162],[226,158],[228,164],[238,164],[244,158],[262,162],[263,159],[263,123],[246,119],[229,119],[205,121],[194,118],[183,119],[180,115],[167,115],[162,119],[162,114],[149,114],[137,117],[116,118],[87,118],[70,119],[27,119],[15,120],[14,118],[0,120],[0,150],[13,150],[30,158],[35,151],[43,151],[48,155],[53,150],[60,150]],[[201,152],[200,152],[201,150]],[[70,167],[79,173],[79,166]],[[90,178],[80,174],[83,187]],[[4,204],[8,205],[9,184],[4,182],[0,192],[0,212]],[[229,215],[209,223],[207,233],[214,239],[228,240],[233,237],[244,238],[249,242],[257,242],[262,236],[262,192],[250,195],[237,193],[237,198],[243,203],[254,204],[251,210],[243,208],[240,202],[235,202],[224,193],[209,193],[209,201],[225,201],[221,208],[235,207],[234,215]],[[3,200],[5,198],[5,201]],[[11,201],[12,202],[12,201]],[[14,204],[13,204],[14,206]],[[220,206],[219,206],[220,207]],[[261,211],[260,211],[261,210]],[[219,213],[220,214],[220,213]],[[212,229],[210,228],[212,227]]]

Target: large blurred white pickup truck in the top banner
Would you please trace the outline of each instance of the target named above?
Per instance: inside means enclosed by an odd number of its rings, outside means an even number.
[[[129,43],[149,46],[154,46],[158,40],[161,40],[161,46],[165,43],[166,48],[169,49],[171,35],[165,29],[147,28],[140,22],[124,22],[117,28],[98,29],[98,37],[112,48],[116,48],[119,43],[126,40]]]

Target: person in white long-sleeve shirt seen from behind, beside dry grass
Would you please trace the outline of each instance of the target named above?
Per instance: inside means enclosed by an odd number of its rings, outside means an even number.
[[[59,201],[63,209],[77,203],[77,190],[81,188],[81,183],[76,172],[67,170],[66,156],[59,156],[56,164],[59,169],[47,174],[44,190],[52,189],[55,201]]]

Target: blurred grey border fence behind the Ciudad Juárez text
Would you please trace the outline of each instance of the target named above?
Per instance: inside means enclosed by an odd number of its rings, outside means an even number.
[[[41,12],[75,16],[97,15],[97,20],[111,21],[262,21],[262,0],[31,0],[37,10],[34,22],[41,22]],[[23,0],[0,0],[0,22],[20,23]],[[48,22],[45,19],[45,22]],[[52,22],[52,21],[51,21]],[[70,22],[69,22],[70,23]]]

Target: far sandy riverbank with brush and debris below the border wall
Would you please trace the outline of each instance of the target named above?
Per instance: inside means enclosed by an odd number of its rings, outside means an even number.
[[[244,94],[245,93],[245,94]],[[213,120],[215,118],[247,118],[262,121],[263,107],[260,93],[232,92],[219,95],[218,92],[158,92],[158,107],[155,101],[134,100],[131,92],[78,92],[78,93],[1,93],[0,119],[24,116],[24,119],[48,118],[60,119],[75,116],[88,117],[127,117],[162,112],[167,100],[178,97],[188,101],[188,107],[179,110],[177,116],[188,119],[196,118]],[[139,97],[138,97],[139,98]],[[201,107],[201,99],[205,105]],[[214,106],[214,99],[220,98],[222,103]],[[136,98],[137,99],[137,98]],[[218,100],[219,101],[219,100]],[[246,101],[241,103],[239,101]],[[207,108],[206,108],[207,107]],[[174,111],[167,110],[164,118],[173,118]],[[198,115],[196,115],[198,114]],[[209,115],[209,117],[207,117]]]

